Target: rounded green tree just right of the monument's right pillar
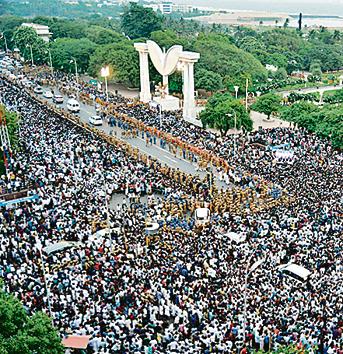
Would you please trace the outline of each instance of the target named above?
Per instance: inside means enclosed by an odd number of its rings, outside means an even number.
[[[218,129],[223,136],[235,127],[235,120],[237,129],[251,131],[253,126],[245,107],[227,93],[212,96],[205,110],[200,113],[200,119],[204,127]]]

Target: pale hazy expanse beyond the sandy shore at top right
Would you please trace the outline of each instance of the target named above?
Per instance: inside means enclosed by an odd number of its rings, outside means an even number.
[[[343,16],[343,0],[174,0],[174,2],[218,9]]]

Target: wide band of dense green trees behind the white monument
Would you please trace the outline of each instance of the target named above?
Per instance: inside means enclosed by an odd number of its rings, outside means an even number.
[[[23,33],[15,36],[22,22],[22,18],[2,17],[0,31],[10,46],[17,45],[29,59],[27,38]],[[311,79],[318,80],[322,71],[343,67],[340,32],[324,28],[301,32],[287,28],[205,26],[183,18],[163,17],[134,3],[125,8],[120,21],[91,16],[75,20],[36,17],[33,22],[48,25],[52,31],[50,49],[56,68],[71,71],[70,57],[74,57],[81,71],[94,75],[102,65],[110,63],[113,80],[130,86],[137,86],[139,81],[138,55],[133,43],[147,38],[165,48],[181,44],[186,50],[198,51],[201,58],[195,70],[196,88],[212,92],[233,92],[235,85],[244,91],[246,79],[249,90],[266,92],[275,89],[275,85],[280,87],[280,82],[285,83],[287,74],[293,70],[311,70]],[[25,40],[20,41],[19,37]],[[37,40],[33,42],[35,62],[48,62],[44,45]],[[268,72],[266,64],[277,66],[278,70]],[[152,81],[160,80],[152,70]],[[180,81],[178,74],[171,77],[171,88],[180,90]]]

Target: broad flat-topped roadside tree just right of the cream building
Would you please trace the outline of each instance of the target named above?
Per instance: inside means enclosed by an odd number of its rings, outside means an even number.
[[[89,66],[90,56],[96,49],[96,44],[88,38],[59,38],[50,45],[53,65],[68,72],[75,71],[76,59],[78,71],[85,72]]]

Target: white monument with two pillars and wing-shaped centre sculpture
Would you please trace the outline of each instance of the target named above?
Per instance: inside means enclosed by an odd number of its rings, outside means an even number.
[[[153,41],[135,43],[135,48],[139,52],[140,100],[145,103],[151,101],[148,60],[150,56],[156,70],[162,75],[166,93],[165,97],[155,98],[155,101],[164,110],[179,109],[178,98],[170,96],[168,90],[168,76],[178,68],[182,71],[183,78],[183,117],[185,119],[195,119],[194,64],[199,60],[200,54],[183,51],[180,45],[174,45],[165,52]]]

